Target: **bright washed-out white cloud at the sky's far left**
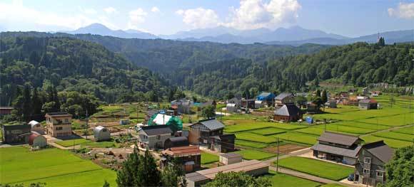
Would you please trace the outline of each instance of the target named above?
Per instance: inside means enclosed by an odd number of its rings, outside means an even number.
[[[22,29],[22,31],[41,30],[38,27],[45,30],[47,28],[76,29],[91,23],[104,23],[109,28],[117,28],[105,17],[94,15],[95,12],[93,9],[81,9],[74,14],[60,15],[29,8],[21,1],[13,1],[11,4],[0,2],[0,23],[8,26],[9,30]]]

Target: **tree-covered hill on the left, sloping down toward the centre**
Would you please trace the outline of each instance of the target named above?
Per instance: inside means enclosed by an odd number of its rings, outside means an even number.
[[[2,35],[0,80],[0,105],[11,105],[26,83],[44,91],[56,87],[88,93],[106,102],[145,100],[166,92],[166,84],[150,70],[99,44],[62,37]]]

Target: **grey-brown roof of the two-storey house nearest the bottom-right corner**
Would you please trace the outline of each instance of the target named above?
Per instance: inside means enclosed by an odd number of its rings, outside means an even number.
[[[385,144],[383,140],[364,144],[362,147],[384,163],[390,161],[394,155],[394,150]]]

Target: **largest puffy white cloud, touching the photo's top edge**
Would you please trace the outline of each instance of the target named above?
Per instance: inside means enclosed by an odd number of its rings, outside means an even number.
[[[294,23],[301,4],[297,0],[241,0],[238,9],[231,8],[232,14],[224,26],[239,29],[273,28],[280,23]]]

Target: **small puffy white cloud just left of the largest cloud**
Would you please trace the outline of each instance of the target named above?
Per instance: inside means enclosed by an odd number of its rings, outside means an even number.
[[[193,26],[194,28],[208,28],[218,26],[218,16],[211,9],[178,10],[176,14],[183,16],[183,22]]]

